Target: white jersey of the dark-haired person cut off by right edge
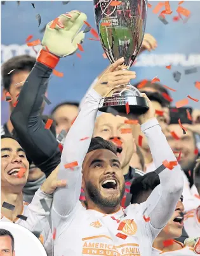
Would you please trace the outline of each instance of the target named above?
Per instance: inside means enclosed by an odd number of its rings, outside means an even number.
[[[194,210],[187,211],[184,216],[184,227],[189,236],[200,236],[200,205]]]

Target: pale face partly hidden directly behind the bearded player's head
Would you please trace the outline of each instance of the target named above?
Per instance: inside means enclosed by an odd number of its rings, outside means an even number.
[[[130,129],[133,126],[125,124],[125,120],[128,118],[103,113],[97,118],[93,132],[93,137],[99,136],[108,141],[117,138],[122,142],[122,152],[117,153],[122,169],[129,165],[133,152],[136,150],[132,133],[121,133],[121,129]]]

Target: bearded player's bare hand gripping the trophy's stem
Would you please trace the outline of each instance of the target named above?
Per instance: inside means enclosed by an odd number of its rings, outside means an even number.
[[[105,97],[109,92],[119,85],[126,85],[131,79],[136,78],[134,71],[124,70],[123,66],[124,58],[121,58],[114,62],[98,79],[97,83],[93,87],[100,96]]]

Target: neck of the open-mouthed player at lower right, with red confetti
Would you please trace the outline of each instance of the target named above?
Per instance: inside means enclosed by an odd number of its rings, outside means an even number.
[[[157,236],[157,238],[154,240],[153,247],[162,252],[170,252],[170,251],[182,249],[182,246],[180,245],[180,243],[176,243],[175,241],[173,241],[172,245],[164,246],[163,242],[166,240],[171,240],[171,239],[170,238],[166,239],[166,238]]]

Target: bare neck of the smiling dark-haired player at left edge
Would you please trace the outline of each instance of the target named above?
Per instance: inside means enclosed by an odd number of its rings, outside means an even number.
[[[1,214],[4,217],[8,218],[12,222],[16,220],[17,215],[22,215],[23,211],[23,194],[12,194],[7,191],[1,190],[1,205],[3,202],[13,204],[15,206],[15,210],[11,211],[6,208],[1,207]]]

